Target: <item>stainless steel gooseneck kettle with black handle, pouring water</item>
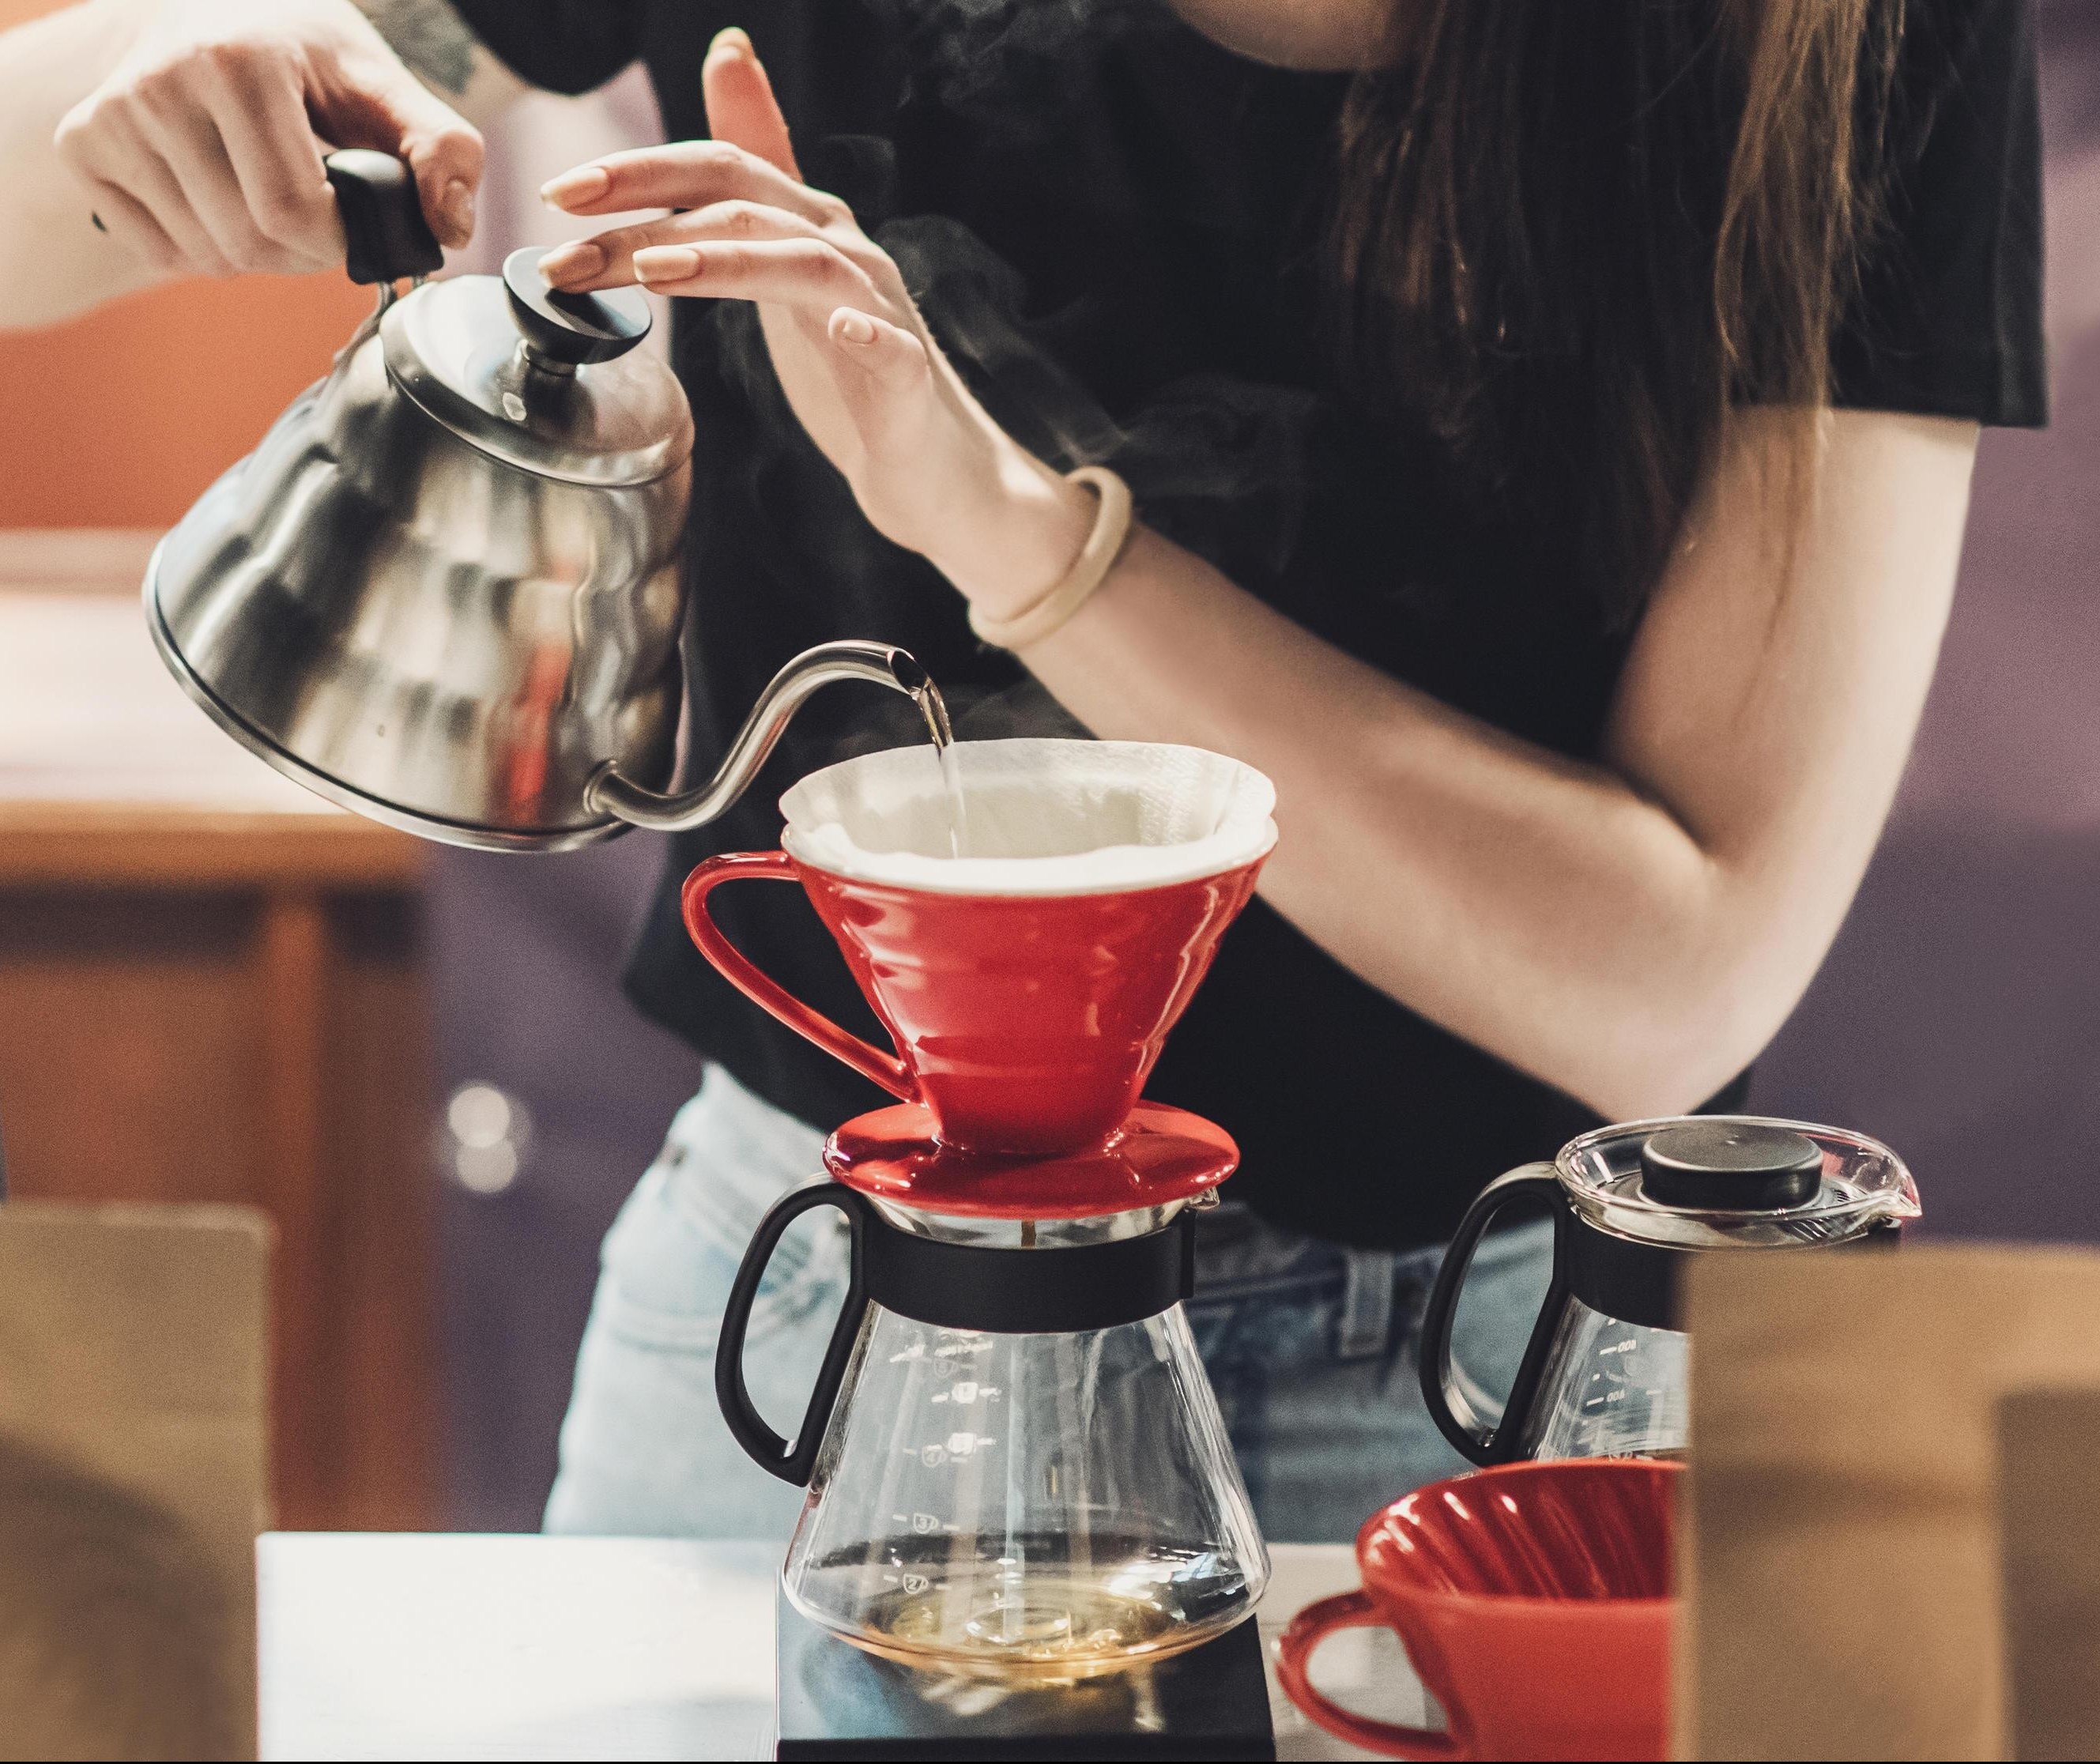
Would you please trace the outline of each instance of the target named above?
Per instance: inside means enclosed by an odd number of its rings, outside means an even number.
[[[909,693],[945,739],[911,655],[830,643],[666,794],[693,416],[636,349],[647,302],[554,292],[533,248],[424,284],[443,252],[407,168],[349,149],[328,178],[378,309],[145,575],[162,659],[229,735],[344,808],[496,850],[714,819],[827,680]]]

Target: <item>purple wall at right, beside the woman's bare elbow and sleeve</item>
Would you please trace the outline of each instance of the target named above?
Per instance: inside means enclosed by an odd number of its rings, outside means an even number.
[[[1984,437],[1896,813],[1751,1100],[1886,1138],[1934,1233],[2100,1241],[2100,4],[2041,27],[2054,424]]]

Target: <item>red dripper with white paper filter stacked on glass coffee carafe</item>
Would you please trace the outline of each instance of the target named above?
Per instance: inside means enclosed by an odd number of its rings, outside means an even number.
[[[836,1180],[773,1208],[724,1315],[731,1432],[808,1485],[783,1592],[943,1672],[1086,1678],[1210,1640],[1268,1577],[1180,1308],[1237,1151],[1140,1092],[1275,840],[1266,779],[1189,748],[991,741],[848,760],[781,806],[785,850],[695,869],[687,926],[899,1098],[832,1134]],[[895,1052],[729,945],[708,897],[737,878],[804,886]],[[844,1214],[853,1275],[790,1443],[743,1388],[743,1331],[813,1208]]]

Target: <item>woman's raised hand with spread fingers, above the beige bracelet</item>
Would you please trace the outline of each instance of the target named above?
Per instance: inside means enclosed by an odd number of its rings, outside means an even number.
[[[548,281],[756,302],[790,405],[874,527],[985,611],[1027,605],[1086,544],[1092,496],[985,414],[888,252],[844,202],[802,183],[743,32],[714,40],[701,82],[712,141],[609,153],[542,191],[571,214],[687,212],[559,248]]]

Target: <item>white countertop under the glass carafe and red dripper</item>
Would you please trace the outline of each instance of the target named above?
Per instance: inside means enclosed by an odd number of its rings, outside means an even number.
[[[1357,1583],[1273,1546],[1264,1640]],[[279,1531],[256,1546],[265,1758],[769,1758],[773,1544]],[[1420,1718],[1399,1644],[1344,1632],[1323,1688]],[[1270,1678],[1281,1758],[1367,1758]]]

